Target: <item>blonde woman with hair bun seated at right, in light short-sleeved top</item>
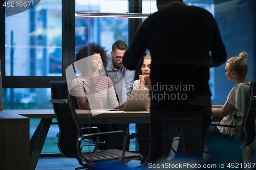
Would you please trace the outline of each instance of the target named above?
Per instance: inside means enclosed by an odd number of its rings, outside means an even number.
[[[249,97],[250,83],[247,82],[248,66],[245,62],[247,53],[241,53],[239,57],[232,57],[226,63],[226,75],[229,81],[234,81],[234,86],[227,96],[224,105],[212,106],[211,114],[221,116],[221,125],[241,126],[244,120],[246,106]],[[209,133],[217,135],[233,136],[236,140],[241,140],[243,130],[241,128],[228,128],[210,126]]]

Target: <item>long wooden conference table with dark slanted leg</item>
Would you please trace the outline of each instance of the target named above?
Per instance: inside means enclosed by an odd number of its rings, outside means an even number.
[[[41,118],[33,136],[30,139],[30,169],[34,170],[45,143],[52,119],[53,109],[41,110],[6,110],[10,113],[29,118]],[[109,110],[76,110],[80,124],[138,124],[150,122],[150,110],[145,111],[109,111]]]

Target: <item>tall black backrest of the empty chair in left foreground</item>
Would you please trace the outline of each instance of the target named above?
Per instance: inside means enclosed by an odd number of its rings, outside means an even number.
[[[81,131],[67,81],[50,81],[49,85],[52,91],[50,102],[59,126],[59,150],[67,157],[79,158],[77,139],[81,136]]]

